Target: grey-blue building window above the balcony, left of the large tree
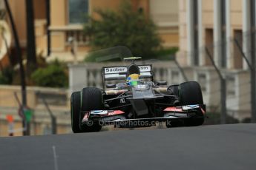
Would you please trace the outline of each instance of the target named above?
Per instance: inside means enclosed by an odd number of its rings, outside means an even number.
[[[70,24],[82,24],[88,15],[89,0],[68,0],[68,16]]]

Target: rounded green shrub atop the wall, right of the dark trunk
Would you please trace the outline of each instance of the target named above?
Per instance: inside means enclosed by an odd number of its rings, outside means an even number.
[[[36,69],[31,78],[37,86],[68,86],[68,75],[65,72],[65,67],[59,61],[54,61],[45,68]]]

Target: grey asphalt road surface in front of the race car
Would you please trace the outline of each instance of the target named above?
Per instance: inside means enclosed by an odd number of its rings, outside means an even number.
[[[0,169],[256,169],[256,124],[0,137]]]

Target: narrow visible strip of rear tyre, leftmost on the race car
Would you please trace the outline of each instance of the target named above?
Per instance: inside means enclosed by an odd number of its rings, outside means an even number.
[[[71,127],[74,133],[82,132],[80,129],[79,114],[81,105],[81,93],[73,92],[70,98],[70,111],[71,111]]]

